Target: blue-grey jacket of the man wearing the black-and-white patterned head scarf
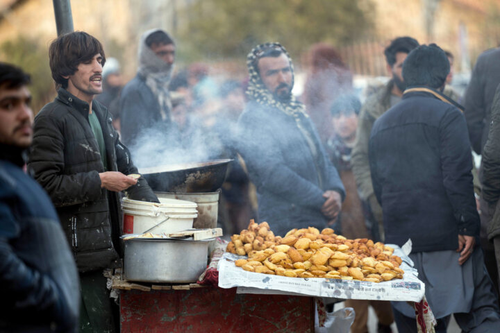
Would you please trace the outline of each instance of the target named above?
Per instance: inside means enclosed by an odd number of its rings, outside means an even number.
[[[292,228],[325,228],[324,191],[345,196],[312,121],[304,117],[302,123],[317,146],[318,170],[293,117],[251,101],[238,120],[238,150],[257,187],[259,219],[267,221],[276,235],[283,236]]]

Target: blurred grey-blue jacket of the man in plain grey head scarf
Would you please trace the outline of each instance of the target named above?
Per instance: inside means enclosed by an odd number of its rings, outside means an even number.
[[[119,108],[120,133],[126,146],[137,144],[145,130],[151,135],[158,133],[165,137],[172,129],[169,120],[162,120],[158,99],[140,74],[125,85],[120,95]]]

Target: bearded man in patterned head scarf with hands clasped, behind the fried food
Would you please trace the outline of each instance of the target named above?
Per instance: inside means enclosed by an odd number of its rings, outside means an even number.
[[[335,222],[344,186],[306,108],[292,95],[293,65],[281,44],[247,56],[249,86],[238,119],[238,151],[256,185],[258,215],[276,235]]]

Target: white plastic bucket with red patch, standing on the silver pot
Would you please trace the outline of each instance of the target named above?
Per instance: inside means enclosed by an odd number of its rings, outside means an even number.
[[[124,234],[142,234],[153,227],[150,230],[152,233],[171,233],[191,229],[194,219],[198,216],[196,203],[170,200],[169,203],[164,204],[167,201],[160,199],[160,204],[158,204],[124,199],[122,201]],[[179,207],[174,207],[173,201],[180,202]],[[167,218],[167,221],[160,223]]]

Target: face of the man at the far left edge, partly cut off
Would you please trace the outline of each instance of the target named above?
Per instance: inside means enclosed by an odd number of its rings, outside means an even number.
[[[26,86],[0,86],[0,143],[28,148],[33,139],[31,94]]]

